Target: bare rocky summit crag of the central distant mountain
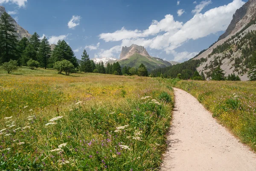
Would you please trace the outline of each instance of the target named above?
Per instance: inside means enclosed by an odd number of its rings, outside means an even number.
[[[138,46],[136,44],[132,44],[130,47],[127,47],[127,46],[122,47],[122,52],[120,54],[120,60],[127,59],[134,53],[138,53],[143,56],[150,56],[143,46]]]

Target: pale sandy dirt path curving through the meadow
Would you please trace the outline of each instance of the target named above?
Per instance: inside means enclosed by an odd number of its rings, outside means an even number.
[[[256,171],[256,154],[239,142],[192,95],[175,90],[169,147],[161,171]]]

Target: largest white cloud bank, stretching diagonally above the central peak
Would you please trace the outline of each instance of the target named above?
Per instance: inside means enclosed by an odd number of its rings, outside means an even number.
[[[113,57],[115,53],[121,51],[122,46],[131,46],[134,43],[145,46],[145,48],[164,50],[167,54],[174,55],[177,61],[185,59],[186,56],[191,58],[196,55],[196,52],[175,53],[174,50],[191,39],[196,40],[226,30],[236,9],[244,3],[242,0],[233,0],[227,5],[210,9],[204,14],[196,13],[186,23],[175,21],[173,16],[168,14],[160,21],[153,20],[146,30],[122,28],[113,33],[102,33],[99,38],[105,42],[121,41],[121,44],[108,50],[102,49],[96,55]]]

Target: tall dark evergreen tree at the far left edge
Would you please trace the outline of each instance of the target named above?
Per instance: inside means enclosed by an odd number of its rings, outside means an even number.
[[[12,17],[4,12],[0,17],[0,63],[17,60],[17,36]]]

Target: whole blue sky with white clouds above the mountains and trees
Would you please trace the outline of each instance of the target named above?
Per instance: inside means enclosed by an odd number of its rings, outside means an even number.
[[[242,0],[0,0],[30,34],[64,39],[81,58],[119,58],[122,46],[145,46],[167,61],[186,61],[227,29]]]

